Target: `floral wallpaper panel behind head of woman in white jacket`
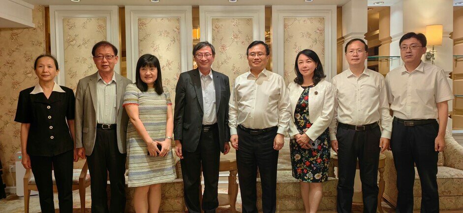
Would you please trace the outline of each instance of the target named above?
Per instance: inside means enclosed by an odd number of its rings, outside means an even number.
[[[325,62],[325,18],[284,18],[284,80],[286,85],[296,78],[294,61],[304,49],[317,53]],[[325,71],[326,73],[326,71]]]

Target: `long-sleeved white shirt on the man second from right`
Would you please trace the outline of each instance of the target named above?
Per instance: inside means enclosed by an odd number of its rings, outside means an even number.
[[[389,112],[384,77],[365,68],[357,78],[350,69],[333,78],[335,110],[330,125],[330,139],[336,140],[338,122],[367,125],[378,122],[381,137],[391,138],[392,117]]]

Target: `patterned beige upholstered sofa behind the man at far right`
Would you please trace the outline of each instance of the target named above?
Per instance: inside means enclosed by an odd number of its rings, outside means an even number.
[[[439,153],[437,162],[437,185],[441,211],[463,212],[463,147],[455,141],[447,131],[445,135],[444,151]],[[386,155],[386,168],[384,172],[385,190],[383,197],[392,205],[397,206],[397,173],[394,166],[394,157],[391,151]],[[421,207],[420,177],[415,167],[415,185],[413,186],[414,211]]]

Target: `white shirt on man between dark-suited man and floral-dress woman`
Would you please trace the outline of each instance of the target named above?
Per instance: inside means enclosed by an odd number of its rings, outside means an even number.
[[[288,130],[289,96],[283,77],[264,69],[257,78],[250,71],[238,76],[231,89],[229,102],[230,134],[237,126],[266,129],[278,126],[277,133]]]

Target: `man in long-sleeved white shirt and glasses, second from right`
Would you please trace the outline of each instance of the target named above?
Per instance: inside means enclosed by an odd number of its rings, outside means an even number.
[[[384,77],[365,66],[368,46],[352,39],[345,46],[349,69],[333,78],[335,112],[331,147],[338,153],[338,212],[352,212],[355,170],[359,160],[364,212],[378,206],[379,152],[389,147],[392,117]]]

